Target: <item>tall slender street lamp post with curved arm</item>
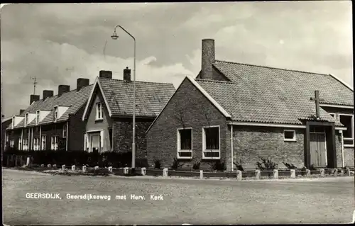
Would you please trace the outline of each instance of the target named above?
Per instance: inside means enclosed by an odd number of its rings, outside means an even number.
[[[126,32],[134,41],[134,53],[133,53],[133,139],[132,139],[132,168],[136,166],[136,38],[133,37],[126,29],[121,26],[114,27],[114,34],[111,38],[116,40],[119,36],[116,34],[116,28],[121,28]]]

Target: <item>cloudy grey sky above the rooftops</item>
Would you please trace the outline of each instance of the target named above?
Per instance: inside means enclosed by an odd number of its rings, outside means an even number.
[[[2,111],[18,114],[33,94],[92,83],[99,70],[122,79],[172,82],[201,68],[201,40],[214,38],[217,60],[334,74],[353,86],[351,1],[12,4],[1,9]]]

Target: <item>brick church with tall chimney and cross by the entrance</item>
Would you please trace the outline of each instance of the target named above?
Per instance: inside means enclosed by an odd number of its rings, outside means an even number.
[[[149,164],[178,157],[185,166],[219,159],[229,170],[235,162],[255,169],[268,157],[279,167],[354,166],[353,89],[332,74],[214,55],[214,40],[202,40],[200,74],[182,81],[147,130]]]

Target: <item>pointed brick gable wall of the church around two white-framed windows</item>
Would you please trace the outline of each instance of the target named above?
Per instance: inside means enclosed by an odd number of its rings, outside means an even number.
[[[210,101],[189,81],[185,79],[178,91],[171,98],[164,111],[160,114],[147,133],[148,164],[160,159],[164,167],[173,164],[177,157],[178,128],[192,128],[192,157],[202,158],[202,127],[220,126],[221,160],[230,167],[230,140],[226,118]],[[227,152],[226,152],[227,150]],[[190,168],[194,160],[182,160],[185,167]],[[208,160],[202,160],[201,169],[209,168]]]

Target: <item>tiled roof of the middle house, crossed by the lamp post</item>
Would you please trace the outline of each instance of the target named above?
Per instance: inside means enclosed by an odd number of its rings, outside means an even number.
[[[132,115],[133,82],[99,78],[112,115]],[[174,94],[173,84],[136,81],[136,116],[156,117]]]

